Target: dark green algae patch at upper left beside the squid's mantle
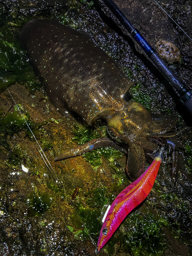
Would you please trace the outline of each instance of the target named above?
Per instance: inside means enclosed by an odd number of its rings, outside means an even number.
[[[38,90],[41,84],[29,63],[27,51],[18,42],[18,30],[30,18],[13,19],[2,4],[0,12],[4,13],[0,19],[0,92],[15,81],[28,86],[29,91]]]

